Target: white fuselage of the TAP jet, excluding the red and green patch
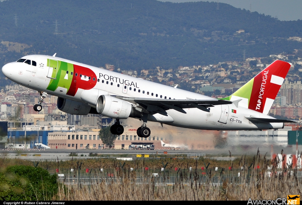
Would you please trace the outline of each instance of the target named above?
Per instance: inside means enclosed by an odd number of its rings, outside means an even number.
[[[108,71],[94,66],[85,65],[67,59],[44,55],[29,55],[23,59],[30,59],[37,62],[37,66],[28,65],[23,62],[11,62],[3,66],[2,72],[12,81],[26,86],[28,88],[44,91],[48,94],[62,98],[68,98],[74,101],[87,103],[81,96],[83,89],[79,88],[74,96],[66,95],[67,89],[64,85],[58,87],[55,91],[47,90],[51,78],[47,77],[49,67],[47,59],[59,60],[78,66],[91,69],[97,79],[96,85],[91,92],[98,91],[100,94],[117,95],[136,98],[158,98],[158,99],[191,99],[191,100],[213,100],[214,98],[201,94],[185,91],[182,89],[146,81],[140,78],[134,78],[117,72]],[[85,75],[85,73],[82,73]],[[82,78],[81,78],[82,79]],[[99,79],[99,81],[98,81]],[[84,78],[82,80],[85,80]],[[112,85],[111,85],[112,84]],[[119,87],[118,87],[119,85]],[[139,92],[140,91],[140,92]],[[95,104],[89,104],[95,107]],[[236,112],[233,113],[232,109]],[[186,114],[176,110],[167,110],[169,119],[156,114],[156,117],[149,120],[169,124],[177,127],[201,129],[201,130],[263,130],[278,129],[284,126],[283,123],[251,123],[245,117],[272,118],[266,114],[247,109],[245,107],[236,107],[235,104],[216,105],[210,107],[210,112],[201,111],[198,108],[184,109]],[[223,112],[223,111],[224,112]],[[274,118],[273,118],[274,119]]]

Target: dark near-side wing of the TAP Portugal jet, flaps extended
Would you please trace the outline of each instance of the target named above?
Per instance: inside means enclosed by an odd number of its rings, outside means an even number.
[[[159,113],[167,116],[166,110],[174,109],[178,112],[186,114],[184,108],[198,108],[205,112],[210,112],[208,107],[214,105],[232,104],[231,101],[226,100],[174,100],[174,99],[154,99],[154,98],[127,98],[114,96],[134,104],[138,104],[146,110],[146,113]]]

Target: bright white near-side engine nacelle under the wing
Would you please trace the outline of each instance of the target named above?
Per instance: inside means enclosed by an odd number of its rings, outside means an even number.
[[[110,95],[101,95],[98,98],[96,111],[98,114],[114,119],[127,119],[136,113],[129,102]]]

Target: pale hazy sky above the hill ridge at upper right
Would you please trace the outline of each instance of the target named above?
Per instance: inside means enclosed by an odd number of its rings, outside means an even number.
[[[196,0],[161,0],[162,2],[198,2]],[[206,2],[206,1],[203,1]],[[212,2],[209,0],[209,2]],[[217,0],[215,1],[217,2]],[[302,0],[219,0],[236,8],[257,11],[281,21],[302,20]]]

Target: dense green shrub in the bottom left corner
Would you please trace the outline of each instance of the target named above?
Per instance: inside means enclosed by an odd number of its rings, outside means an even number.
[[[40,167],[15,165],[0,172],[0,200],[50,200],[57,192],[57,176]]]

